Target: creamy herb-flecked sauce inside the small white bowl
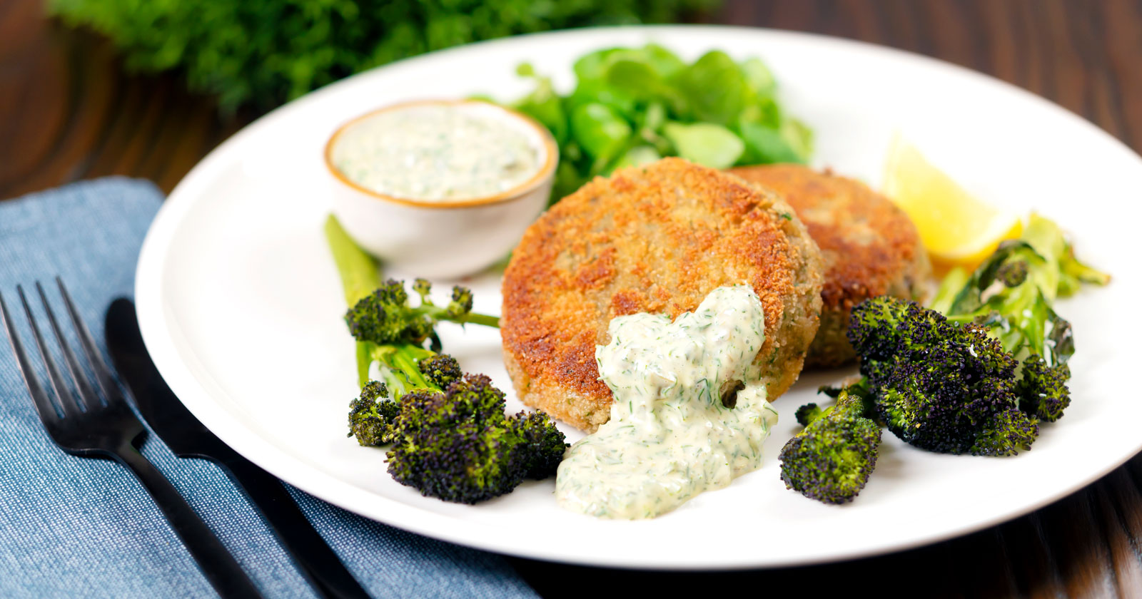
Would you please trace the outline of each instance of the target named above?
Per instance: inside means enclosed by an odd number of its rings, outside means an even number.
[[[330,161],[348,180],[410,200],[486,197],[538,172],[540,148],[492,106],[429,103],[381,111],[348,126]]]

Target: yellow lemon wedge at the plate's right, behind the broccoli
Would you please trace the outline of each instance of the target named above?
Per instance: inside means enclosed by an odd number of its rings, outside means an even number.
[[[899,135],[888,149],[884,195],[916,224],[939,270],[956,266],[971,270],[1023,228],[1019,216],[972,196]]]

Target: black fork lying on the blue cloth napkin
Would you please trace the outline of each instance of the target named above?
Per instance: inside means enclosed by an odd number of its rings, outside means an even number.
[[[96,385],[103,391],[103,400],[64,338],[63,330],[56,321],[56,315],[51,310],[43,288],[40,283],[35,283],[35,290],[43,303],[43,310],[47,313],[48,323],[56,341],[59,343],[77,394],[72,392],[56,365],[55,358],[51,357],[51,351],[45,343],[43,335],[40,334],[40,327],[37,325],[32,308],[24,296],[24,289],[17,286],[19,301],[24,306],[24,313],[32,327],[32,335],[35,338],[35,345],[39,347],[45,369],[48,371],[48,379],[55,390],[56,403],[53,403],[51,394],[40,385],[40,380],[35,375],[35,370],[24,351],[19,334],[16,332],[16,325],[8,313],[8,306],[5,305],[3,296],[0,294],[0,315],[2,315],[8,330],[11,349],[16,354],[19,370],[24,373],[24,381],[27,383],[27,391],[32,395],[35,411],[39,412],[48,436],[61,450],[72,455],[110,458],[126,466],[151,493],[154,502],[170,521],[175,532],[178,533],[183,543],[186,544],[218,594],[226,598],[262,597],[250,578],[218,541],[218,537],[194,513],[194,510],[171,486],[170,481],[136,448],[136,444],[142,443],[145,437],[146,429],[143,428],[143,423],[123,399],[118,385],[112,379],[111,370],[107,369],[107,364],[91,338],[91,332],[80,319],[63,281],[57,277],[56,284],[59,286],[59,294],[63,296],[67,314],[71,316],[82,354],[87,357],[87,365],[95,373]]]

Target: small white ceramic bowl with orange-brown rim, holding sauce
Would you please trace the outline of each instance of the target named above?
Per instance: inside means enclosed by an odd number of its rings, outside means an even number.
[[[377,193],[349,180],[333,165],[343,131],[384,111],[449,104],[481,118],[502,120],[528,136],[539,170],[505,192],[456,201],[416,200]],[[325,143],[332,208],[345,230],[387,266],[421,277],[450,278],[476,273],[502,259],[547,205],[558,146],[547,128],[518,112],[481,100],[420,100],[394,104],[340,126]]]

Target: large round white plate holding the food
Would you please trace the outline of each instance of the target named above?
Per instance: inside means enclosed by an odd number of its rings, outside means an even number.
[[[329,210],[321,148],[338,123],[411,98],[529,89],[532,62],[556,83],[601,47],[662,43],[684,58],[719,48],[759,56],[785,105],[818,133],[815,163],[872,184],[894,130],[984,200],[1032,208],[1073,233],[1107,289],[1057,310],[1078,348],[1067,418],[1010,459],[936,455],[886,434],[852,504],[787,491],[774,456],[797,406],[838,372],[806,374],[778,407],[761,470],[646,521],[562,511],[552,480],[476,507],[425,499],[385,472],[384,452],[345,437],[356,395],[353,346],[322,233]],[[630,27],[528,35],[434,52],[329,86],[258,120],[214,151],[170,195],[147,235],[136,299],[146,345],[186,406],[236,451],[337,505],[437,539],[505,553],[646,568],[738,568],[867,556],[983,528],[1095,480],[1142,447],[1135,219],[1142,160],[1081,119],[994,79],[895,50],[730,27]],[[431,241],[426,241],[431,243]],[[415,273],[392,273],[396,276]],[[442,285],[443,286],[443,285]],[[494,278],[473,282],[498,314]],[[439,291],[444,291],[443,289]],[[499,334],[441,326],[466,370],[505,390]],[[510,397],[509,408],[520,408]],[[572,438],[578,438],[573,435]]]

